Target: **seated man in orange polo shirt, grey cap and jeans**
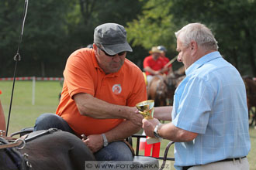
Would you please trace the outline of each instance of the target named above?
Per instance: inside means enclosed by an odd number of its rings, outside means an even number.
[[[85,134],[85,145],[98,161],[132,161],[123,140],[141,128],[143,117],[135,105],[147,100],[144,76],[126,59],[132,52],[126,30],[115,23],[95,28],[93,49],[69,56],[56,114],[42,114],[35,131],[59,128]]]

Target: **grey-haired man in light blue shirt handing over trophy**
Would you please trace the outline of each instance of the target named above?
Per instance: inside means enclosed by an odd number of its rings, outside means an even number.
[[[144,119],[145,133],[175,141],[177,169],[249,169],[247,99],[240,73],[217,51],[206,26],[192,23],[175,35],[186,77],[175,90],[173,107],[155,108],[154,117],[172,122]]]

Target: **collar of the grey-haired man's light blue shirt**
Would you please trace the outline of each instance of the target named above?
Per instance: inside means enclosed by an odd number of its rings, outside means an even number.
[[[218,51],[208,53],[205,56],[202,56],[200,59],[196,60],[195,63],[192,63],[192,65],[189,66],[189,68],[187,70],[185,70],[186,76],[188,76],[194,70],[198,69],[203,64],[208,63],[210,60],[220,58],[220,57],[222,57],[222,56],[220,55],[220,52],[218,52]]]

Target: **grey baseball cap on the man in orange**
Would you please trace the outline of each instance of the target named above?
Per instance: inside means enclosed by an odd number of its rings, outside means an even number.
[[[133,51],[126,41],[126,29],[116,23],[97,26],[94,30],[94,42],[100,44],[100,48],[109,55],[115,55],[123,51]]]

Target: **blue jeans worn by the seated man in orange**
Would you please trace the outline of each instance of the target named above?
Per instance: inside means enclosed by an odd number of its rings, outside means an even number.
[[[57,114],[41,114],[36,119],[34,131],[47,130],[49,128],[57,128],[62,131],[68,131],[74,134],[62,117]],[[130,148],[123,141],[114,141],[109,143],[105,148],[94,153],[98,161],[132,161],[133,155]]]

